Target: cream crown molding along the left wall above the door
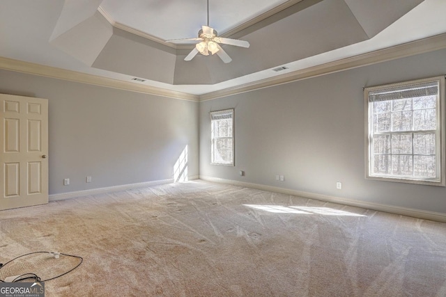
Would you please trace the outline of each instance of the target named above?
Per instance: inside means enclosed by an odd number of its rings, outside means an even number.
[[[75,81],[78,83],[88,83],[96,86],[107,88],[116,88],[120,90],[129,90],[132,92],[169,97],[174,99],[182,99],[187,101],[199,102],[199,96],[188,93],[146,86],[130,81],[120,81],[117,79],[109,79],[107,77],[99,77],[93,74],[75,72],[61,68],[29,63],[25,61],[13,60],[10,58],[0,57],[0,69],[10,70],[14,72],[22,72],[26,74],[34,74],[42,77],[51,77],[53,79],[63,79],[66,81]]]

